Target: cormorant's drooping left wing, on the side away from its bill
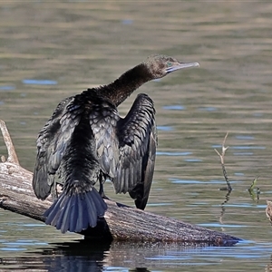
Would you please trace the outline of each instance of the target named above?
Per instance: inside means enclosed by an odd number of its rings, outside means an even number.
[[[51,193],[55,185],[54,174],[59,169],[74,127],[80,120],[83,110],[73,105],[73,99],[68,97],[58,104],[53,116],[38,135],[33,177],[34,193],[38,199],[46,199]]]

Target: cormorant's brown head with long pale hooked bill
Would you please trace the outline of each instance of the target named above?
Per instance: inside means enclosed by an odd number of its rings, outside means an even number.
[[[149,56],[144,64],[148,68],[153,79],[161,78],[168,73],[172,73],[180,69],[199,67],[199,63],[180,63],[170,56],[161,54],[153,54]]]

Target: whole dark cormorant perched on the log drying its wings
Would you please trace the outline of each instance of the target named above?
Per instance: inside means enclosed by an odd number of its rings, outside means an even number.
[[[108,85],[88,89],[60,102],[37,139],[33,188],[38,199],[55,198],[44,213],[46,224],[80,232],[95,227],[107,205],[103,183],[129,192],[138,209],[149,198],[157,146],[151,98],[137,96],[121,118],[117,107],[143,83],[199,63],[180,63],[164,55],[147,60]],[[56,175],[56,177],[55,177]],[[55,178],[63,184],[57,198]],[[100,182],[99,192],[94,184]]]

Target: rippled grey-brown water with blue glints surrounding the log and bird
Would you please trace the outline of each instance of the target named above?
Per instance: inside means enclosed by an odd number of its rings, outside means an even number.
[[[147,210],[244,241],[232,248],[90,244],[0,210],[0,270],[272,271],[265,214],[272,199],[271,14],[270,2],[2,1],[0,118],[24,168],[33,170],[36,135],[64,97],[112,82],[151,53],[199,62],[145,84],[120,112],[139,92],[155,101],[159,149]],[[227,131],[233,191],[224,203],[214,148]],[[258,201],[248,194],[257,176]],[[111,184],[106,193],[132,204]]]

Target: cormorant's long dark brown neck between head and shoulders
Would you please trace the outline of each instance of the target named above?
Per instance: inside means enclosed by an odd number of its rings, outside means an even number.
[[[126,73],[123,73],[121,77],[113,83],[102,86],[100,94],[109,99],[117,107],[143,83],[147,83],[152,79],[153,76],[146,65],[141,63]]]

